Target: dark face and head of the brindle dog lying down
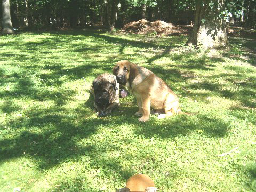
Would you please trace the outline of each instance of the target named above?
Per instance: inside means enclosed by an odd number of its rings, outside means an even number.
[[[115,99],[117,85],[116,82],[106,79],[95,79],[93,81],[94,102],[100,107],[106,107]]]

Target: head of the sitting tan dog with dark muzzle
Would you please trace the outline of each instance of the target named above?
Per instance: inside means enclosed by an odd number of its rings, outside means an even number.
[[[127,61],[118,61],[113,68],[113,74],[116,76],[117,82],[121,85],[126,85],[127,82],[131,84],[133,79],[138,74],[136,65]]]

